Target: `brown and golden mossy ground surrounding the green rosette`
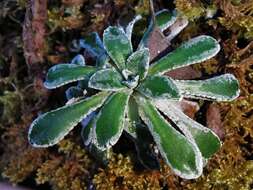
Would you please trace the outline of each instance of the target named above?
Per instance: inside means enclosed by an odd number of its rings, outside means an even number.
[[[221,116],[218,131],[223,134],[223,146],[208,162],[203,175],[190,181],[173,175],[162,161],[159,171],[140,169],[131,144],[125,147],[124,143],[119,142],[108,166],[98,164],[83,146],[79,135],[80,127],[76,127],[65,140],[52,148],[35,149],[28,144],[28,127],[37,113],[56,108],[66,101],[64,88],[47,91],[43,88],[42,81],[50,66],[68,62],[76,54],[77,49],[72,41],[92,31],[101,34],[108,25],[116,24],[119,18],[127,20],[134,14],[149,14],[148,1],[144,0],[53,0],[44,5],[34,2],[36,1],[0,1],[2,180],[32,186],[35,189],[52,187],[55,190],[94,187],[253,189],[251,0],[155,1],[156,10],[176,8],[191,20],[189,26],[172,42],[173,47],[200,34],[208,34],[219,40],[222,50],[218,56],[194,66],[195,70],[201,71],[205,78],[230,72],[235,74],[241,85],[241,96],[237,100],[215,103]],[[31,21],[30,25],[25,19],[25,13],[29,9],[32,10],[31,17],[26,19]],[[44,18],[43,15],[47,17]],[[26,29],[24,24],[27,24]],[[24,33],[24,30],[27,33]],[[35,32],[36,35],[26,36],[29,31],[30,34]],[[88,55],[87,60],[92,62]],[[208,117],[206,108],[213,104],[199,103],[201,109],[196,116],[205,124],[205,120],[208,120],[205,119]],[[123,136],[121,141],[128,140],[124,138]]]

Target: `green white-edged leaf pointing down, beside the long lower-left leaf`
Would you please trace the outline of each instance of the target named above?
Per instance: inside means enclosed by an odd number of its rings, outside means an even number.
[[[129,91],[115,92],[100,110],[95,126],[94,144],[105,150],[116,144],[124,129]]]

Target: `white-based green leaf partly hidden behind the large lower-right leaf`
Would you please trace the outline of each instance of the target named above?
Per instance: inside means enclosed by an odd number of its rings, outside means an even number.
[[[167,115],[189,139],[194,139],[202,156],[210,158],[221,146],[219,137],[210,129],[202,126],[185,115],[172,101],[155,100],[155,106]]]

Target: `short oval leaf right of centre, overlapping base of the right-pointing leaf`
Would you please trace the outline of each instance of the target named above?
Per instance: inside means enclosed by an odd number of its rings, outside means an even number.
[[[170,98],[179,100],[181,95],[174,82],[164,76],[148,76],[137,88],[144,96],[149,98]]]

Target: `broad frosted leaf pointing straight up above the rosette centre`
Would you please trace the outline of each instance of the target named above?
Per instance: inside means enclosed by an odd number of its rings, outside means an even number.
[[[109,26],[104,31],[104,46],[119,70],[126,67],[126,60],[132,54],[131,41],[126,36],[124,30],[119,27]]]

